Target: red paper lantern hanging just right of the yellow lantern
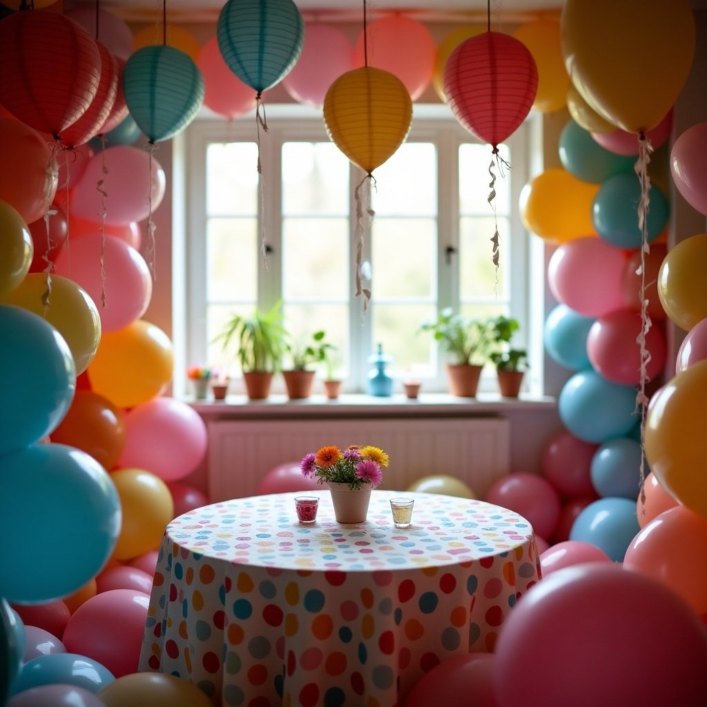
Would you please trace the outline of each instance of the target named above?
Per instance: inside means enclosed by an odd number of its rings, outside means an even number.
[[[495,149],[525,120],[537,94],[537,66],[510,35],[469,37],[450,54],[444,92],[456,119]]]

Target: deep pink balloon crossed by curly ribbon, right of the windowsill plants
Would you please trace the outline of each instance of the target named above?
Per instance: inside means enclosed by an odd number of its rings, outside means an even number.
[[[640,312],[614,310],[599,317],[587,335],[587,354],[592,367],[619,385],[641,382],[641,346],[638,335],[643,329]],[[653,324],[645,333],[645,349],[650,359],[645,365],[648,380],[657,378],[665,367],[667,342],[660,324]]]

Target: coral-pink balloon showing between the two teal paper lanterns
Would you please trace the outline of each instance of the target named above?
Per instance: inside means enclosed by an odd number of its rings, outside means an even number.
[[[204,77],[206,107],[228,118],[237,118],[255,110],[255,90],[228,68],[215,36],[201,47],[197,66]]]

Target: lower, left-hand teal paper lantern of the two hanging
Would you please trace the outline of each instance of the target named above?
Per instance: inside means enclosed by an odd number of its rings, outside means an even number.
[[[204,105],[204,77],[189,54],[152,45],[131,54],[123,69],[130,115],[151,143],[189,125]]]

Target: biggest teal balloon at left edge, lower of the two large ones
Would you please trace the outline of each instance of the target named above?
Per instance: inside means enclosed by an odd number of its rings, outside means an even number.
[[[0,596],[17,604],[67,597],[110,559],[120,532],[115,484],[86,452],[38,444],[0,457]]]

